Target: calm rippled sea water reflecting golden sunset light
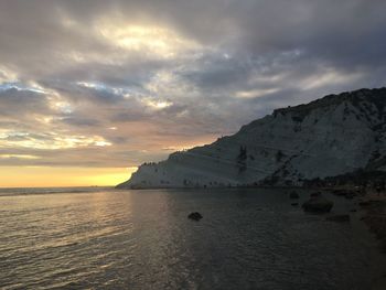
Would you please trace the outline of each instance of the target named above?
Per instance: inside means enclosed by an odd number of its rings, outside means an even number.
[[[290,203],[278,190],[1,190],[0,288],[371,289],[383,265],[361,213],[337,224]]]

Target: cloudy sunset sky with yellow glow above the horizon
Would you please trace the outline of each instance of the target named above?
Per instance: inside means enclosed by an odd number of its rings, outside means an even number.
[[[385,86],[384,0],[1,0],[0,187],[114,185],[278,107]]]

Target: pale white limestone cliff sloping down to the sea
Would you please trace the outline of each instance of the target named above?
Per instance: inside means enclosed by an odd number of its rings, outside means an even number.
[[[386,170],[386,88],[277,109],[234,136],[142,164],[118,187],[301,184],[358,169]]]

